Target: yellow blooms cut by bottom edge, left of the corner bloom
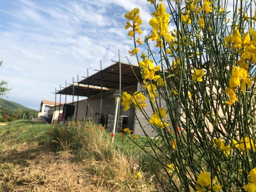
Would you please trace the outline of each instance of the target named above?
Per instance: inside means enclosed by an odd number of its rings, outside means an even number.
[[[219,191],[222,188],[222,186],[220,185],[212,186],[212,183],[214,183],[215,180],[211,181],[210,175],[206,171],[203,171],[198,175],[198,179],[196,181],[197,191],[204,192],[205,189],[208,189],[210,191]]]

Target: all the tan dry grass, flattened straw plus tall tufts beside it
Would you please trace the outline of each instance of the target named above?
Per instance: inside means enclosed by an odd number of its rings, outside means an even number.
[[[100,142],[88,141],[82,149],[88,153],[86,158],[77,162],[77,151],[70,150],[70,143],[62,139],[54,142],[61,146],[57,152],[46,143],[12,140],[4,140],[0,145],[0,191],[146,192],[154,189],[146,178],[134,178],[138,171],[133,169],[137,158]]]

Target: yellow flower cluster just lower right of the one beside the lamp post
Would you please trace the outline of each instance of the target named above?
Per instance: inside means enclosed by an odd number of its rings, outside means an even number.
[[[163,108],[159,108],[157,109],[157,111],[155,111],[155,113],[149,118],[149,123],[151,125],[155,125],[157,127],[161,127],[161,128],[165,128],[167,126],[169,126],[169,123],[167,123],[166,121],[163,121],[163,118],[166,118],[166,110]]]

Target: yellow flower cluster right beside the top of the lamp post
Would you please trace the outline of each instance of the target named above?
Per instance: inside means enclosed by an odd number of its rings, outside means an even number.
[[[131,95],[125,91],[122,95],[121,105],[124,106],[124,111],[127,111],[131,105],[141,110],[146,106],[145,100],[146,97],[141,92],[134,92],[133,95]]]

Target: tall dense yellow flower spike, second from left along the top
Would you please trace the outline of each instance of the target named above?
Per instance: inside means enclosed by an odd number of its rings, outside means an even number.
[[[153,28],[152,34],[148,36],[151,41],[156,41],[156,47],[163,46],[163,39],[167,42],[174,40],[168,30],[170,14],[166,13],[164,4],[160,3],[157,6],[156,12],[152,13],[154,18],[149,21],[149,25]]]

